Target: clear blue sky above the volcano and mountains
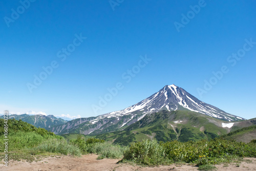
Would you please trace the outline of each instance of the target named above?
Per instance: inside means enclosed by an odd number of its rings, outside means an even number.
[[[175,84],[228,113],[256,117],[255,1],[22,2],[26,8],[0,2],[0,113],[97,116]],[[238,52],[239,60],[229,57]],[[216,81],[212,72],[223,66],[228,72]],[[47,78],[36,86],[40,73]],[[214,85],[200,95],[204,80]],[[92,105],[118,82],[123,89],[95,113]]]

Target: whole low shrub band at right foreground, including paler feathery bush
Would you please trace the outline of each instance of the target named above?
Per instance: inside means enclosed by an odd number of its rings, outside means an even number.
[[[224,139],[160,144],[155,140],[143,140],[133,143],[120,162],[145,165],[186,162],[199,166],[237,161],[241,157],[256,157],[256,144]]]

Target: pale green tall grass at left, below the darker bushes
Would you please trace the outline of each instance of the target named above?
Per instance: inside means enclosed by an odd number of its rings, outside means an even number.
[[[81,151],[76,145],[72,145],[60,136],[41,136],[35,132],[16,132],[8,136],[8,152],[15,154],[13,157],[19,159],[20,156],[41,155],[46,152],[62,155],[81,156]],[[0,152],[4,153],[4,139],[0,139]],[[10,158],[11,159],[11,158]]]

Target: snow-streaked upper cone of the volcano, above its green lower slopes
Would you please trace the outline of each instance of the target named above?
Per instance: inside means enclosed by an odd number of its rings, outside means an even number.
[[[170,86],[165,86],[159,92],[138,102],[137,104],[130,106],[129,108],[126,108],[121,111],[115,111],[108,114],[104,114],[101,115],[101,117],[111,118],[123,115],[130,115],[134,113],[143,114],[143,116],[145,116],[146,114],[159,112],[162,110],[189,110],[228,121],[243,119],[228,114],[220,110],[219,108],[216,108],[213,105],[200,101],[193,95],[186,92],[184,89],[179,88],[174,84]]]

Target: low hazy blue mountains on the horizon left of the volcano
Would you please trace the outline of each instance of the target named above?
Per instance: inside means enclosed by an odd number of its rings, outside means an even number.
[[[4,119],[4,116],[0,116],[0,118]],[[16,120],[21,119],[24,122],[30,123],[36,127],[42,127],[44,129],[49,129],[51,126],[60,125],[67,122],[66,120],[63,120],[61,118],[56,118],[53,115],[9,115],[9,119],[12,118]]]

